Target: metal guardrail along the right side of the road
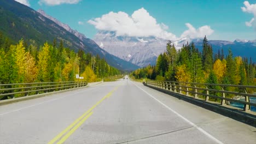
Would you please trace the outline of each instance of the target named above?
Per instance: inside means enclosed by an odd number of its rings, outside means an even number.
[[[220,99],[221,105],[225,105],[227,101],[233,101],[236,103],[244,104],[243,110],[250,111],[251,105],[256,106],[256,103],[251,103],[249,97],[256,98],[256,94],[248,93],[247,89],[253,89],[256,91],[256,86],[245,85],[223,85],[223,84],[211,84],[211,83],[194,83],[194,82],[176,82],[176,81],[146,81],[147,85],[165,89],[167,91],[185,94],[187,96],[193,96],[198,98],[199,95],[203,96],[206,101],[209,98]],[[216,89],[211,89],[216,87]],[[218,88],[217,88],[218,87]],[[227,89],[232,87],[234,91],[228,91]],[[221,89],[221,90],[220,90]],[[217,93],[220,95],[218,96]],[[245,97],[245,101],[227,98],[226,95],[239,95]]]

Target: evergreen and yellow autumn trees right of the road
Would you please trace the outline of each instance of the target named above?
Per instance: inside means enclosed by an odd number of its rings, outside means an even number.
[[[255,85],[256,64],[251,58],[234,57],[231,50],[227,56],[223,50],[213,53],[205,37],[202,51],[194,43],[187,43],[177,51],[168,41],[166,51],[159,55],[156,65],[137,69],[132,75],[136,79]]]

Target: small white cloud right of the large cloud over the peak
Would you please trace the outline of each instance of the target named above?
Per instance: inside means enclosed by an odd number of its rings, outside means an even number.
[[[202,26],[198,29],[195,29],[190,23],[185,24],[188,27],[187,31],[184,31],[181,37],[190,37],[191,39],[194,38],[203,38],[205,35],[211,35],[214,31],[211,29],[210,26]]]

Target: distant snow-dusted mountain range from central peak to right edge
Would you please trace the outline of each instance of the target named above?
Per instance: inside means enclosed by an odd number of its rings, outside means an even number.
[[[167,40],[155,37],[128,37],[116,36],[115,32],[99,31],[95,35],[95,42],[102,49],[108,51],[125,61],[145,67],[148,64],[155,65],[160,53],[165,52]],[[183,44],[194,42],[199,50],[202,50],[202,39],[190,39],[189,37],[171,40],[176,49],[181,49]],[[256,40],[209,40],[214,52],[219,49],[228,54],[228,49],[232,50],[234,56],[252,57],[256,61]]]

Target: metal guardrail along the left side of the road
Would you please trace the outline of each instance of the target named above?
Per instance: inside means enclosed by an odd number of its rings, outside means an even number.
[[[61,91],[84,87],[88,85],[86,81],[66,81],[66,82],[35,82],[35,83],[11,83],[0,84],[0,100],[3,98],[24,97],[39,93]]]

